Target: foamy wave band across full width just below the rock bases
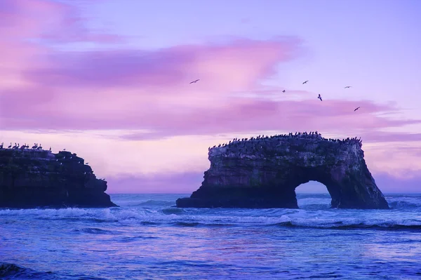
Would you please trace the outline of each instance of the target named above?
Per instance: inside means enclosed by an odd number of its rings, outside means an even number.
[[[421,216],[403,211],[352,210],[352,209],[228,209],[228,208],[65,208],[3,210],[8,215],[35,220],[119,222],[121,225],[283,225],[290,222],[300,227],[379,227],[401,228],[421,226]],[[358,218],[355,218],[358,217]],[[285,224],[287,225],[287,224]],[[112,234],[101,227],[83,227],[88,234]]]

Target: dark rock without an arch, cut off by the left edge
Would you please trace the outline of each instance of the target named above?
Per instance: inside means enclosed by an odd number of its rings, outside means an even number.
[[[0,207],[111,207],[107,182],[71,152],[0,149]]]

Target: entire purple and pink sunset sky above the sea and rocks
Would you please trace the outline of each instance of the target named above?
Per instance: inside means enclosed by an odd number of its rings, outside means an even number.
[[[0,142],[75,152],[109,193],[187,194],[209,146],[318,131],[361,137],[383,192],[420,192],[418,11],[417,0],[1,0]]]

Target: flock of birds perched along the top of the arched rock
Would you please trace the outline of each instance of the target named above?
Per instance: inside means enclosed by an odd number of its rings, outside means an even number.
[[[257,137],[241,138],[241,139],[240,138],[234,138],[233,140],[230,140],[227,143],[223,143],[223,144],[220,144],[218,146],[215,145],[213,147],[208,147],[208,151],[210,151],[210,149],[217,148],[217,147],[227,147],[229,145],[236,145],[240,142],[245,143],[245,142],[250,142],[250,141],[258,141],[258,144],[259,144],[260,140],[265,142],[265,140],[275,139],[275,138],[277,138],[277,139],[279,139],[279,138],[298,138],[298,139],[300,139],[300,138],[304,138],[304,139],[318,138],[320,140],[327,140],[327,141],[330,141],[330,142],[338,142],[339,144],[353,143],[354,142],[354,143],[358,143],[360,146],[361,146],[361,143],[362,143],[361,138],[354,137],[354,138],[346,138],[346,139],[342,139],[342,140],[334,139],[334,138],[323,138],[320,133],[317,133],[317,131],[312,131],[312,132],[309,132],[309,133],[307,133],[307,132],[303,132],[303,133],[296,132],[295,134],[294,133],[288,133],[288,134],[277,134],[277,135],[272,135],[272,136],[259,135]]]

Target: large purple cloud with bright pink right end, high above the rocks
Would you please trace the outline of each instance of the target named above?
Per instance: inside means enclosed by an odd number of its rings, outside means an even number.
[[[191,91],[201,79],[206,91],[250,88],[275,73],[279,62],[293,58],[298,40],[237,39],[229,44],[202,44],[148,50],[53,53],[46,67],[27,69],[30,81],[52,86],[165,88]],[[173,88],[177,86],[178,88]],[[179,94],[179,93],[172,93]]]

